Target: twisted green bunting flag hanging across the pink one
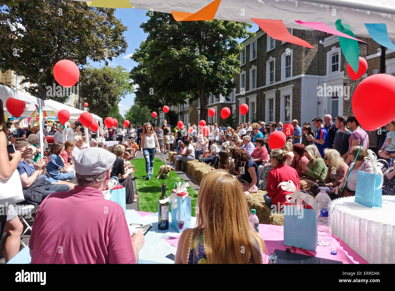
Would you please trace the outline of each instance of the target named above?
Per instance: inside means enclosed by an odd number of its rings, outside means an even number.
[[[355,38],[354,32],[352,32],[352,29],[350,25],[348,24],[342,24],[341,19],[337,19],[335,22],[336,29],[342,33],[348,34],[349,36],[352,36]],[[356,40],[352,40],[350,38],[345,38],[342,36],[339,36],[339,44],[340,48],[342,49],[342,52],[344,54],[344,57],[350,64],[351,68],[354,70],[354,72],[358,72],[358,67],[359,67],[359,45]]]

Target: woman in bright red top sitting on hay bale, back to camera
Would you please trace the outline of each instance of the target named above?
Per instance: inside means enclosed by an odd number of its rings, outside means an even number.
[[[278,184],[281,182],[292,181],[295,184],[297,190],[299,190],[299,176],[295,169],[287,165],[286,151],[281,149],[275,149],[270,152],[270,161],[274,167],[267,175],[267,193],[263,196],[267,205],[276,205],[279,210],[280,204],[286,202],[285,195],[291,194],[289,191],[282,190]]]

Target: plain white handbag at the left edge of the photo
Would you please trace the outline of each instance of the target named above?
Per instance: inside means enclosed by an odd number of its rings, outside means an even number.
[[[8,207],[9,204],[22,201],[24,201],[24,197],[21,178],[18,170],[15,170],[8,179],[0,179],[0,205]]]

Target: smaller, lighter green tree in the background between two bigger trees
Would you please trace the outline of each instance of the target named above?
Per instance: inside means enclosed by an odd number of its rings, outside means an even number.
[[[118,103],[132,93],[129,73],[121,66],[93,68],[88,67],[80,77],[79,93],[88,102],[89,111],[106,118],[111,116],[124,121],[119,114]]]

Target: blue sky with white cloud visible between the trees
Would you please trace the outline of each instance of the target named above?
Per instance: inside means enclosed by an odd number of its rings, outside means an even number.
[[[128,48],[126,49],[126,53],[120,55],[117,58],[113,58],[112,61],[109,61],[109,66],[116,67],[120,65],[128,72],[137,65],[134,61],[130,59],[130,56],[135,52],[135,49],[138,48],[143,40],[147,38],[147,34],[143,32],[143,29],[140,28],[141,23],[146,22],[149,18],[145,16],[147,10],[141,9],[116,9],[115,17],[120,19],[123,25],[128,27],[128,30],[124,32],[124,36],[126,38],[126,42],[128,43]],[[250,31],[257,31],[258,25],[255,23],[253,27],[249,29]],[[102,67],[104,62],[90,62],[90,65],[93,67]],[[134,104],[134,93],[127,95],[122,101],[119,103],[119,112],[122,116],[126,113],[128,108]]]

